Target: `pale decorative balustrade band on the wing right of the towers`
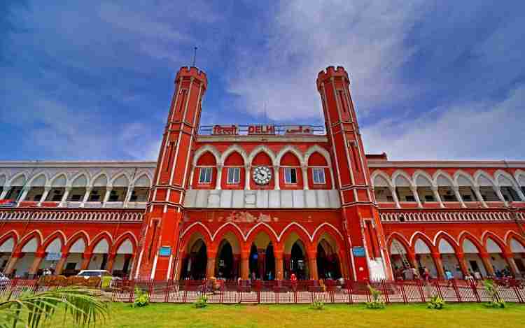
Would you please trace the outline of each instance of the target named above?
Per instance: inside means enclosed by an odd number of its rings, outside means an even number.
[[[379,215],[381,222],[500,222],[514,221],[517,218],[525,223],[525,211],[511,212],[505,209],[382,210]]]

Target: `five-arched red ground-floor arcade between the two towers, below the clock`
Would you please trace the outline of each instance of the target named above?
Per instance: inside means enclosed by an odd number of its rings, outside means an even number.
[[[183,234],[181,260],[175,279],[221,277],[262,280],[349,277],[347,253],[341,236],[319,229],[314,238],[295,226],[278,238],[266,226],[247,237],[228,224],[214,238],[202,224]]]

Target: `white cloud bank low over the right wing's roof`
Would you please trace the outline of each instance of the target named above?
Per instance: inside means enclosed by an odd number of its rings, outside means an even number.
[[[390,159],[523,159],[525,85],[505,99],[435,108],[416,120],[363,128],[369,153]]]

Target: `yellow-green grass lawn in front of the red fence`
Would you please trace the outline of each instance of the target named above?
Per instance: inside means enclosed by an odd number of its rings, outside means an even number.
[[[447,304],[436,311],[426,304],[395,304],[384,310],[368,310],[364,304],[329,304],[316,311],[309,305],[210,304],[197,309],[193,304],[132,308],[116,303],[111,304],[111,319],[100,327],[525,327],[525,306],[507,305],[493,309],[482,304]],[[51,327],[64,326],[57,320]]]

